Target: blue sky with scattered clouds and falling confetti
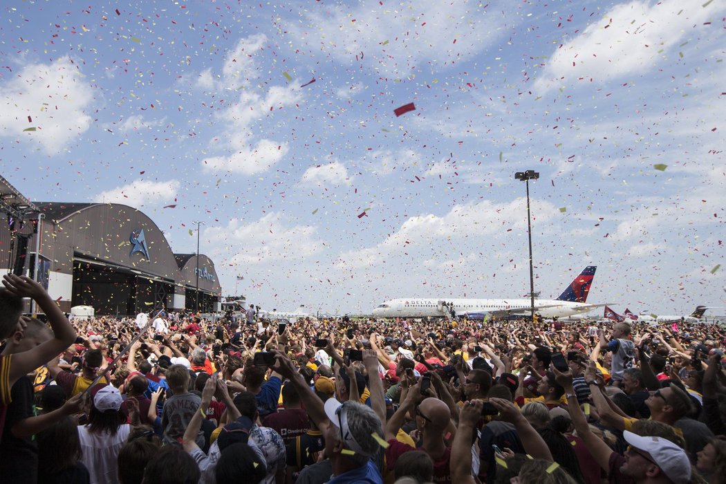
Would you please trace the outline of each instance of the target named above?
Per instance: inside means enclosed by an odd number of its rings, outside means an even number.
[[[724,0],[93,3],[4,2],[3,176],[204,221],[225,294],[524,295],[534,169],[542,298],[726,306]]]

